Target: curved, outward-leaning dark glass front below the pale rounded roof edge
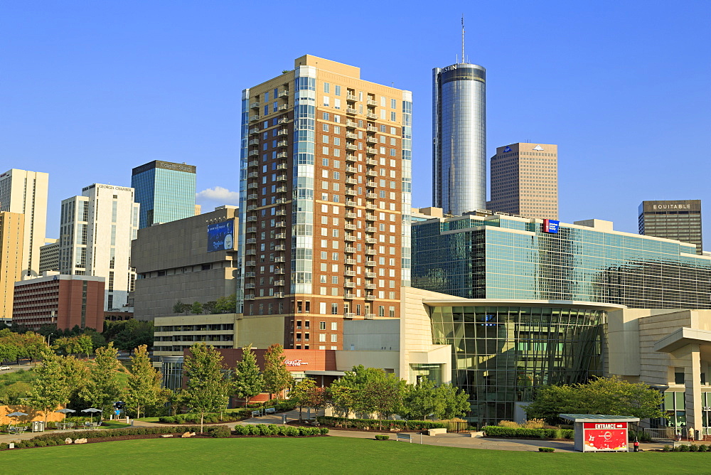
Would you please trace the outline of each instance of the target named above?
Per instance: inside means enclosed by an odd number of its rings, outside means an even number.
[[[451,345],[452,384],[470,395],[470,422],[520,420],[547,384],[602,375],[606,306],[547,301],[462,302],[432,306],[432,343]]]

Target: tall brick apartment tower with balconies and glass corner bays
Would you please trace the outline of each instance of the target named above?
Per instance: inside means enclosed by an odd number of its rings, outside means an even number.
[[[283,323],[285,348],[341,349],[344,320],[399,315],[411,163],[411,92],[360,68],[306,55],[244,90],[244,318]]]

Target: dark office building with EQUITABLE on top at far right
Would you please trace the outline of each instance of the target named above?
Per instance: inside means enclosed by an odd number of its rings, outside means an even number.
[[[702,254],[701,200],[642,201],[638,224],[640,234],[690,242]]]

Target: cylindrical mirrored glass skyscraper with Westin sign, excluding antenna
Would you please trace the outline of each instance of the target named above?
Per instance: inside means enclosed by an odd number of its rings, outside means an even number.
[[[486,209],[486,70],[434,68],[432,197],[444,213]]]

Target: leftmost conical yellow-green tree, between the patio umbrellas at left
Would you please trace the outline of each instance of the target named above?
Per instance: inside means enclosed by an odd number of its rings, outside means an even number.
[[[61,356],[46,349],[42,353],[42,364],[35,368],[36,380],[29,393],[28,404],[44,413],[45,425],[49,413],[60,404],[65,404],[69,399],[67,378],[60,363]]]

